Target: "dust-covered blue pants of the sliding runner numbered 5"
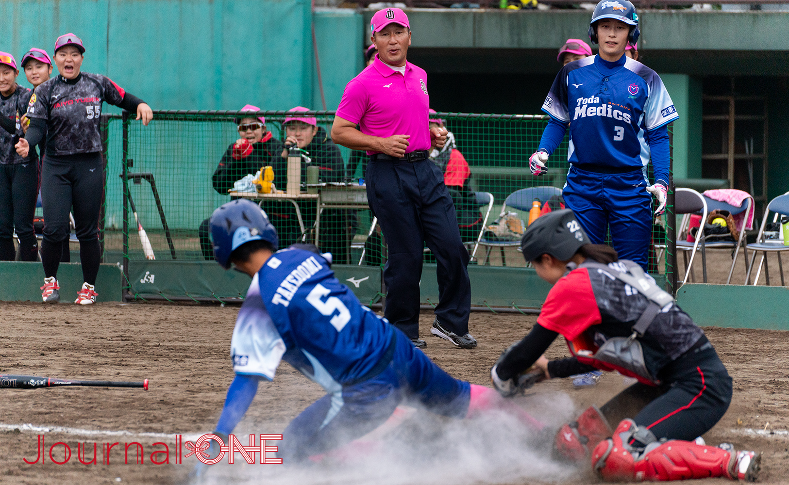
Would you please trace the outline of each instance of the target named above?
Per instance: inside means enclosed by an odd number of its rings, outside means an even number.
[[[442,416],[466,417],[469,382],[453,379],[402,332],[394,333],[394,355],[379,375],[321,397],[282,431],[277,457],[283,464],[304,461],[366,435],[389,419],[403,401]],[[340,403],[338,410],[332,401]]]

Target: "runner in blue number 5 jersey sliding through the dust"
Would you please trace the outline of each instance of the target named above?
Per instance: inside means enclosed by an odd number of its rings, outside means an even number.
[[[539,428],[494,390],[453,379],[406,334],[363,307],[335,278],[331,257],[308,244],[277,251],[277,231],[249,200],[234,200],[211,215],[217,262],[252,277],[230,343],[234,381],[215,435],[226,438],[285,360],[327,394],[297,416],[279,442],[278,457],[296,464],[334,450],[387,421],[402,401],[439,415],[465,418],[508,409]],[[212,442],[211,456],[218,450]],[[204,473],[199,463],[196,476]]]

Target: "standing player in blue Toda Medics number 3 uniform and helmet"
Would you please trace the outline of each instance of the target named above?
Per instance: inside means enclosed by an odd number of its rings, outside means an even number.
[[[542,110],[551,116],[539,148],[529,158],[535,175],[570,126],[570,171],[564,200],[593,244],[608,229],[623,259],[647,268],[652,198],[666,207],[669,150],[667,125],[679,118],[655,71],[627,57],[638,41],[638,13],[627,0],[602,0],[589,23],[597,55],[559,71]],[[647,178],[652,159],[654,182]]]

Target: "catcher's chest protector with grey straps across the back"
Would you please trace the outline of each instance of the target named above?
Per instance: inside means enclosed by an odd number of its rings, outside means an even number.
[[[568,265],[571,268],[573,266],[573,263]],[[583,364],[590,364],[605,371],[619,371],[645,384],[653,386],[660,384],[646,367],[644,351],[638,338],[644,336],[647,328],[662,309],[670,308],[674,303],[674,297],[660,289],[653,278],[647,276],[637,263],[626,259],[611,264],[587,260],[578,267],[585,267],[590,272],[602,272],[611,279],[619,279],[625,283],[626,292],[641,293],[649,300],[649,304],[633,326],[633,334],[630,337],[612,337],[601,345],[596,345],[589,334],[585,333],[567,342],[570,352]]]

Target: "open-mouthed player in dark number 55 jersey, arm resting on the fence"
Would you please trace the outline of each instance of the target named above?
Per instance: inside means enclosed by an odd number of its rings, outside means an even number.
[[[99,274],[99,211],[104,196],[99,117],[102,103],[119,106],[143,125],[153,118],[151,106],[124,91],[107,76],[80,73],[85,48],[72,33],[61,35],[54,43],[54,62],[58,76],[45,81],[30,98],[30,127],[17,144],[17,153],[27,156],[31,146],[47,137],[47,156],[41,174],[44,233],[41,262],[44,285],[41,297],[46,303],[60,300],[58,266],[63,241],[69,237],[69,211],[73,207],[77,238],[80,240],[82,288],[76,304],[95,303],[96,275]]]

